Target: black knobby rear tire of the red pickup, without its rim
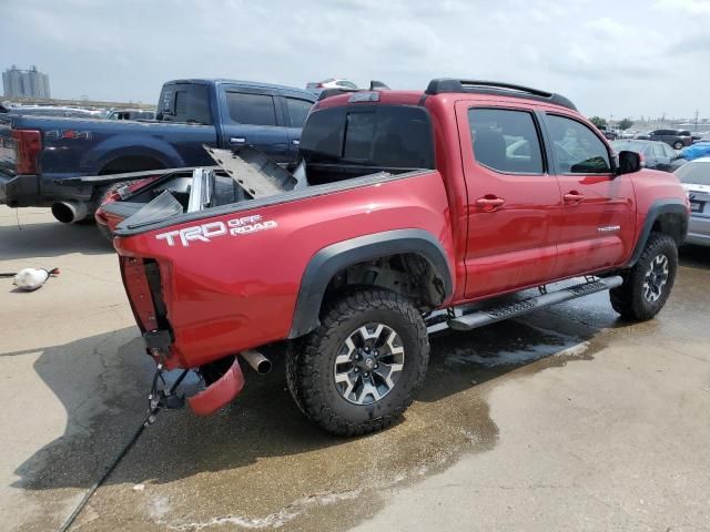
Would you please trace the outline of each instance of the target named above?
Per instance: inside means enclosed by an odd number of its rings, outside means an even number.
[[[337,390],[335,357],[357,328],[385,324],[397,332],[405,349],[404,367],[395,386],[369,405],[348,402]],[[325,431],[359,436],[394,423],[412,405],[426,376],[429,340],[422,315],[405,297],[364,288],[326,304],[316,330],[287,351],[286,382],[301,411]]]

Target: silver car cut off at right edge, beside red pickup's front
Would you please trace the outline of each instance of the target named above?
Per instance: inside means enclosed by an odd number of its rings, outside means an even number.
[[[676,171],[688,192],[690,223],[687,244],[710,246],[710,157],[696,158]]]

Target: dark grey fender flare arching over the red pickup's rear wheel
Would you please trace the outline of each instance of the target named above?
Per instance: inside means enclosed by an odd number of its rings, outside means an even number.
[[[323,296],[335,274],[357,263],[403,253],[424,257],[444,283],[444,300],[452,296],[449,262],[440,243],[427,231],[394,229],[358,236],[326,246],[311,257],[301,279],[288,338],[297,338],[318,327]]]

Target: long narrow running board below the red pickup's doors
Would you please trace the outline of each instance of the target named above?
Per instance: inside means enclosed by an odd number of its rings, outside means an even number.
[[[509,303],[487,308],[485,310],[466,314],[458,318],[449,319],[446,324],[455,330],[470,330],[483,327],[484,325],[495,324],[496,321],[521,316],[532,310],[546,308],[550,305],[557,305],[558,303],[569,301],[570,299],[588,296],[589,294],[596,294],[597,291],[616,288],[617,286],[620,286],[622,282],[623,279],[620,276],[615,276],[592,280],[590,283],[582,283],[581,285],[575,285],[561,290],[541,294],[521,301]]]

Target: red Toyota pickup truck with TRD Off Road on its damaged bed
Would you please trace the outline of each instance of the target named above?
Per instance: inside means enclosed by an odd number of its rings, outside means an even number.
[[[260,347],[286,342],[301,410],[362,434],[412,403],[433,330],[606,289],[623,318],[662,308],[687,195],[566,98],[453,79],[326,96],[293,190],[169,174],[100,212],[149,354],[203,379],[196,412],[240,392],[240,356],[265,370]]]

